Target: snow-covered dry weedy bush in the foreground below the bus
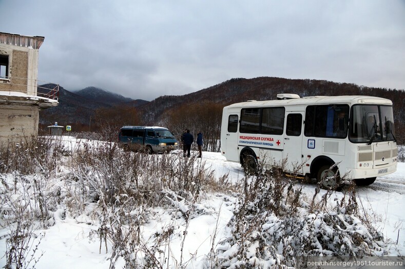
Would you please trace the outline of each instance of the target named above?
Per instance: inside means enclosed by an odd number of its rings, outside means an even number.
[[[384,254],[382,235],[358,215],[355,189],[327,208],[316,194],[311,204],[300,202],[301,188],[279,173],[266,171],[251,180],[229,222],[232,236],[218,247],[217,266],[294,267],[300,256]]]

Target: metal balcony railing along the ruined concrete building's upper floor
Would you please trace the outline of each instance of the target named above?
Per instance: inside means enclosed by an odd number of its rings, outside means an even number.
[[[37,79],[0,77],[0,92],[8,92],[9,94],[20,92],[52,100],[59,99],[59,85]]]

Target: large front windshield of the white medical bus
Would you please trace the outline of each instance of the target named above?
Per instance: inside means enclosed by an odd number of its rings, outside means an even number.
[[[349,139],[355,143],[391,141],[395,139],[391,106],[356,105],[350,117]]]

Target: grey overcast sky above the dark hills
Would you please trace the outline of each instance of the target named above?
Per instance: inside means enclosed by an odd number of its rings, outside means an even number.
[[[44,36],[38,79],[133,99],[235,77],[405,89],[405,1],[0,0],[0,32]]]

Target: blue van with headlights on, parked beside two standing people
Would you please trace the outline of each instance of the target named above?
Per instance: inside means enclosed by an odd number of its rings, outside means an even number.
[[[118,140],[124,148],[145,150],[150,154],[179,148],[179,141],[163,127],[123,126],[118,134]]]

